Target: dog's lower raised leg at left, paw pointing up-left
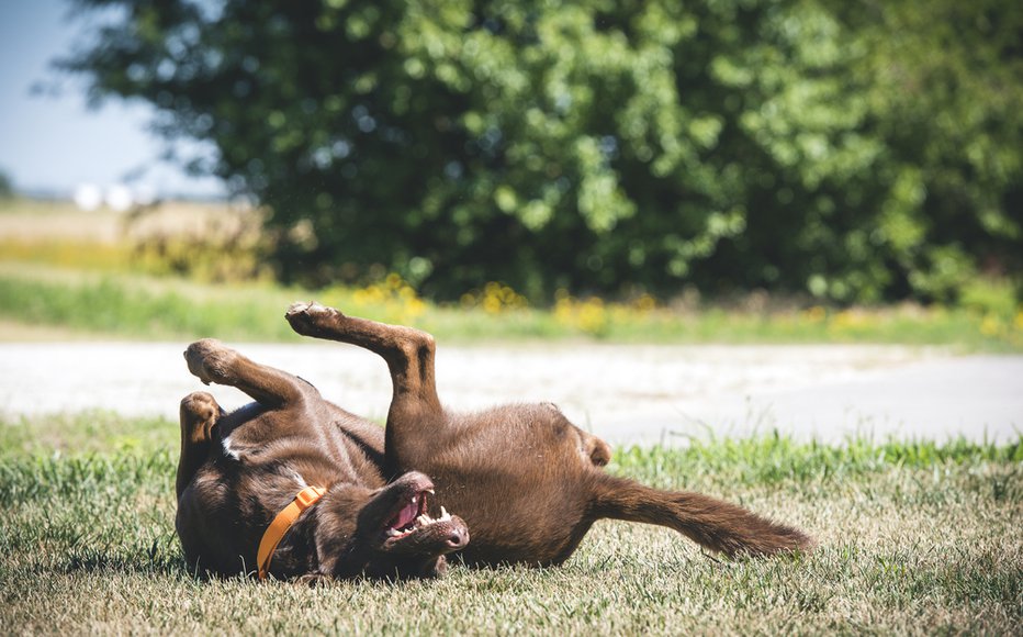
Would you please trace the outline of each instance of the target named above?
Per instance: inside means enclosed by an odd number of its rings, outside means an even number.
[[[302,399],[312,385],[285,371],[252,362],[213,338],[189,345],[184,351],[189,371],[206,384],[238,388],[263,406],[276,409]]]

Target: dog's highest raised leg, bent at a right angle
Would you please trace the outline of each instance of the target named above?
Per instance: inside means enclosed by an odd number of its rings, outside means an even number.
[[[419,436],[428,435],[429,425],[443,415],[434,376],[434,337],[412,327],[346,316],[315,303],[295,303],[285,317],[303,336],[357,345],[387,362],[394,392],[387,412],[387,462],[395,471],[407,470],[401,459],[412,457]]]

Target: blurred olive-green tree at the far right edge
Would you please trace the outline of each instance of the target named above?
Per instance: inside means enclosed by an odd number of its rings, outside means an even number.
[[[898,290],[944,299],[976,269],[1023,272],[1023,8],[998,0],[835,12],[866,54],[888,195],[874,232]]]

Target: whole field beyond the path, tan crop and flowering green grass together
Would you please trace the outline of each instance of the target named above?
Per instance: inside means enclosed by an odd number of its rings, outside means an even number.
[[[898,343],[1023,350],[1023,308],[979,279],[955,305],[831,308],[812,299],[606,300],[560,292],[531,305],[499,281],[460,302],[418,297],[395,275],[362,287],[284,287],[259,267],[251,211],[166,204],[148,216],[81,213],[60,202],[0,203],[0,338],[295,338],[296,300],[413,324],[445,342],[596,338],[619,343]]]

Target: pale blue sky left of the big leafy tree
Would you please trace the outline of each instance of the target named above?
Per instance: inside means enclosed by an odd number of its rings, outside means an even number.
[[[83,82],[53,70],[50,62],[82,32],[67,16],[65,0],[0,0],[0,171],[14,188],[70,195],[81,185],[116,186],[145,168],[130,186],[162,197],[222,194],[218,180],[160,160],[166,142],[147,131],[150,107],[108,100],[90,110]],[[34,85],[54,80],[59,94],[33,94]]]

